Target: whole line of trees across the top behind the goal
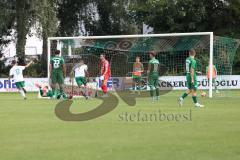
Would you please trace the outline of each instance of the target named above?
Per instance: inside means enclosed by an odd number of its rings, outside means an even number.
[[[0,50],[16,30],[17,55],[24,57],[26,36],[35,27],[47,37],[141,34],[143,23],[154,33],[214,31],[239,38],[240,1],[236,0],[0,0]],[[235,68],[240,67],[240,56]]]

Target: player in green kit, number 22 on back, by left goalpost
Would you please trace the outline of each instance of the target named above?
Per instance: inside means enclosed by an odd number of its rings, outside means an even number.
[[[63,96],[64,99],[67,98],[67,95],[64,93],[63,85],[64,85],[64,77],[66,77],[66,66],[64,59],[60,57],[60,51],[56,50],[54,57],[50,60],[49,65],[50,78],[52,80],[52,90],[53,90],[53,98],[59,98]],[[56,87],[57,84],[60,88],[60,93],[57,93]]]

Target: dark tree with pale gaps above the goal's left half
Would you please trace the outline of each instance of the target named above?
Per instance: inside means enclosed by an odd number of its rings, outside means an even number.
[[[137,32],[128,15],[129,0],[65,0],[59,4],[60,36]]]

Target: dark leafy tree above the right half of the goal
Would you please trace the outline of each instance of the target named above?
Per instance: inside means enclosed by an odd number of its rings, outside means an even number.
[[[232,37],[240,34],[239,1],[137,0],[130,10],[136,22],[145,22],[155,33],[214,31]]]

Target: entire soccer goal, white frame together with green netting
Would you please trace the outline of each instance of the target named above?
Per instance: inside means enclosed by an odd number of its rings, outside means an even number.
[[[201,72],[198,76],[199,89],[208,90],[209,97],[212,97],[215,94],[214,90],[239,89],[239,84],[235,84],[231,76],[238,47],[239,40],[213,36],[212,32],[51,37],[48,39],[48,59],[59,49],[66,62],[67,77],[70,77],[73,66],[79,63],[80,59],[84,59],[91,77],[89,84],[92,88],[99,89],[101,83],[97,78],[100,76],[99,56],[105,54],[111,64],[108,88],[131,90],[133,64],[136,57],[140,57],[144,66],[141,90],[147,90],[148,52],[155,51],[160,62],[160,90],[171,91],[187,88],[185,60],[189,50],[195,49],[197,68]],[[214,74],[217,74],[216,79]],[[68,78],[66,84],[71,86]],[[72,86],[76,87],[76,83]]]

